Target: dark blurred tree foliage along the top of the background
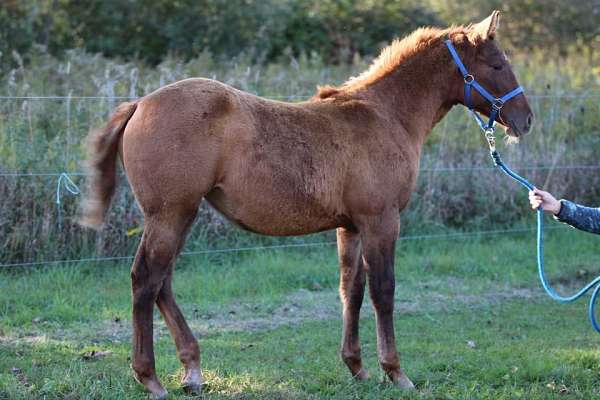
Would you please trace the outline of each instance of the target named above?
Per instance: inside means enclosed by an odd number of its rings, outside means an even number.
[[[466,23],[495,8],[505,11],[515,47],[598,45],[597,0],[4,0],[0,66],[34,46],[151,64],[202,52],[258,62],[315,53],[337,63],[375,54],[416,27]]]

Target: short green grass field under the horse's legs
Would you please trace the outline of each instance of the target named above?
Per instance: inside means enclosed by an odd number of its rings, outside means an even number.
[[[600,270],[597,247],[592,235],[549,233],[559,289]],[[417,385],[410,394],[382,383],[368,302],[361,335],[371,378],[350,380],[338,356],[332,246],[182,258],[174,284],[200,337],[207,398],[600,396],[600,337],[586,302],[545,297],[533,249],[533,234],[400,242],[396,329]],[[2,272],[0,399],[145,398],[129,369],[128,277],[126,264]],[[159,376],[171,398],[186,398],[158,314],[155,331]]]

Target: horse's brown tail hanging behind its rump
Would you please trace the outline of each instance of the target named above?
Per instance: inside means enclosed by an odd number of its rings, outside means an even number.
[[[82,206],[81,225],[102,226],[115,192],[119,141],[137,103],[120,104],[104,129],[92,130],[87,139],[88,188]]]

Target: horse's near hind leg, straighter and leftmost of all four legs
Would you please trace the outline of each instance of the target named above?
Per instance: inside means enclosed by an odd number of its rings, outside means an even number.
[[[152,312],[165,283],[170,284],[173,261],[196,212],[185,212],[175,207],[166,209],[169,211],[146,216],[144,235],[131,269],[132,367],[135,378],[155,398],[163,398],[167,392],[160,384],[154,367]],[[170,287],[166,292],[170,292]],[[179,316],[183,319],[180,313]]]

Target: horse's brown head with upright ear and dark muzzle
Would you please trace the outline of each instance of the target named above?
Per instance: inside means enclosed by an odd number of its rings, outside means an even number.
[[[498,45],[496,31],[499,20],[500,12],[494,11],[485,20],[470,25],[466,29],[466,40],[460,44],[463,50],[463,61],[469,74],[494,98],[501,98],[519,87],[508,58]],[[489,116],[493,106],[490,100],[477,90],[471,92],[472,107],[483,115]],[[465,95],[462,85],[459,96],[464,104]],[[499,102],[498,105],[500,110],[497,120],[507,128],[508,135],[519,137],[530,131],[533,113],[523,93],[507,100],[504,104]]]

